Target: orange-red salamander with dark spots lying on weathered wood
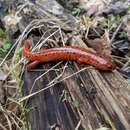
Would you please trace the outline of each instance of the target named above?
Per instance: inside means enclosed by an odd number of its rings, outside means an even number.
[[[39,63],[51,61],[77,61],[94,66],[99,70],[114,70],[116,65],[112,59],[105,54],[97,54],[89,49],[77,46],[64,46],[59,48],[42,49],[39,52],[31,52],[29,40],[24,41],[23,53],[32,63],[27,65],[27,69],[35,68]]]

